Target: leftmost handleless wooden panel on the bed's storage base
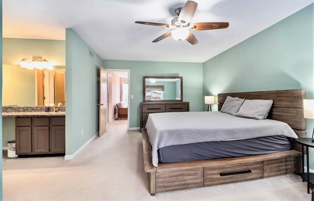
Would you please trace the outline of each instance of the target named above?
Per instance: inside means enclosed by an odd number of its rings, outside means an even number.
[[[156,172],[156,193],[198,187],[203,187],[203,168]]]

